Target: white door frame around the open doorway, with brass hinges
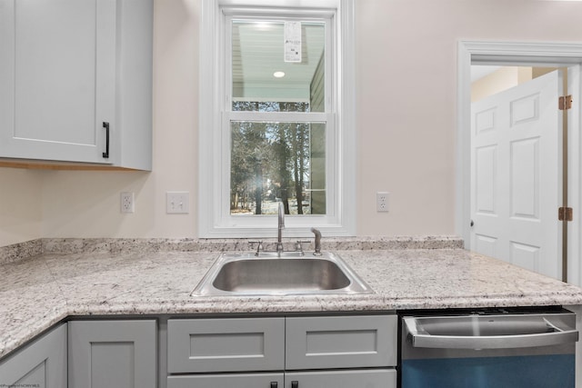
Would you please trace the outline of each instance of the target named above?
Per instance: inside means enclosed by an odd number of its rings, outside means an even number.
[[[457,45],[457,162],[455,230],[463,237],[465,247],[470,246],[470,177],[471,136],[471,65],[540,65],[568,68],[568,94],[582,90],[582,44],[551,42],[500,42],[460,40]],[[580,136],[580,106],[582,98],[575,98],[568,111],[568,176],[579,179],[568,182],[568,206],[574,209],[574,221],[567,224],[571,236],[567,244],[567,257],[577,258],[581,252],[580,217],[582,216],[582,143]],[[576,129],[576,130],[575,130]],[[579,260],[568,260],[568,282],[581,284],[582,265]]]

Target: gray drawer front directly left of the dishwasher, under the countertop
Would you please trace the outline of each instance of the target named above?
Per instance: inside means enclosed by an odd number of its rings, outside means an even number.
[[[286,370],[396,366],[396,315],[286,320]]]

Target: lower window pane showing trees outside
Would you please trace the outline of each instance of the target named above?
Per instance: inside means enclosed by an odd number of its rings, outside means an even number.
[[[326,124],[230,126],[230,214],[326,214]]]

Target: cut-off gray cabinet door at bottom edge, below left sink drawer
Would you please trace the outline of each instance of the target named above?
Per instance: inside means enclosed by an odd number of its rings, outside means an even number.
[[[167,388],[283,388],[283,373],[169,376]]]

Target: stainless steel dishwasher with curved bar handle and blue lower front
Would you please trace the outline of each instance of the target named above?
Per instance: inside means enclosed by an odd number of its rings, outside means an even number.
[[[576,314],[565,309],[401,317],[401,388],[575,386]]]

